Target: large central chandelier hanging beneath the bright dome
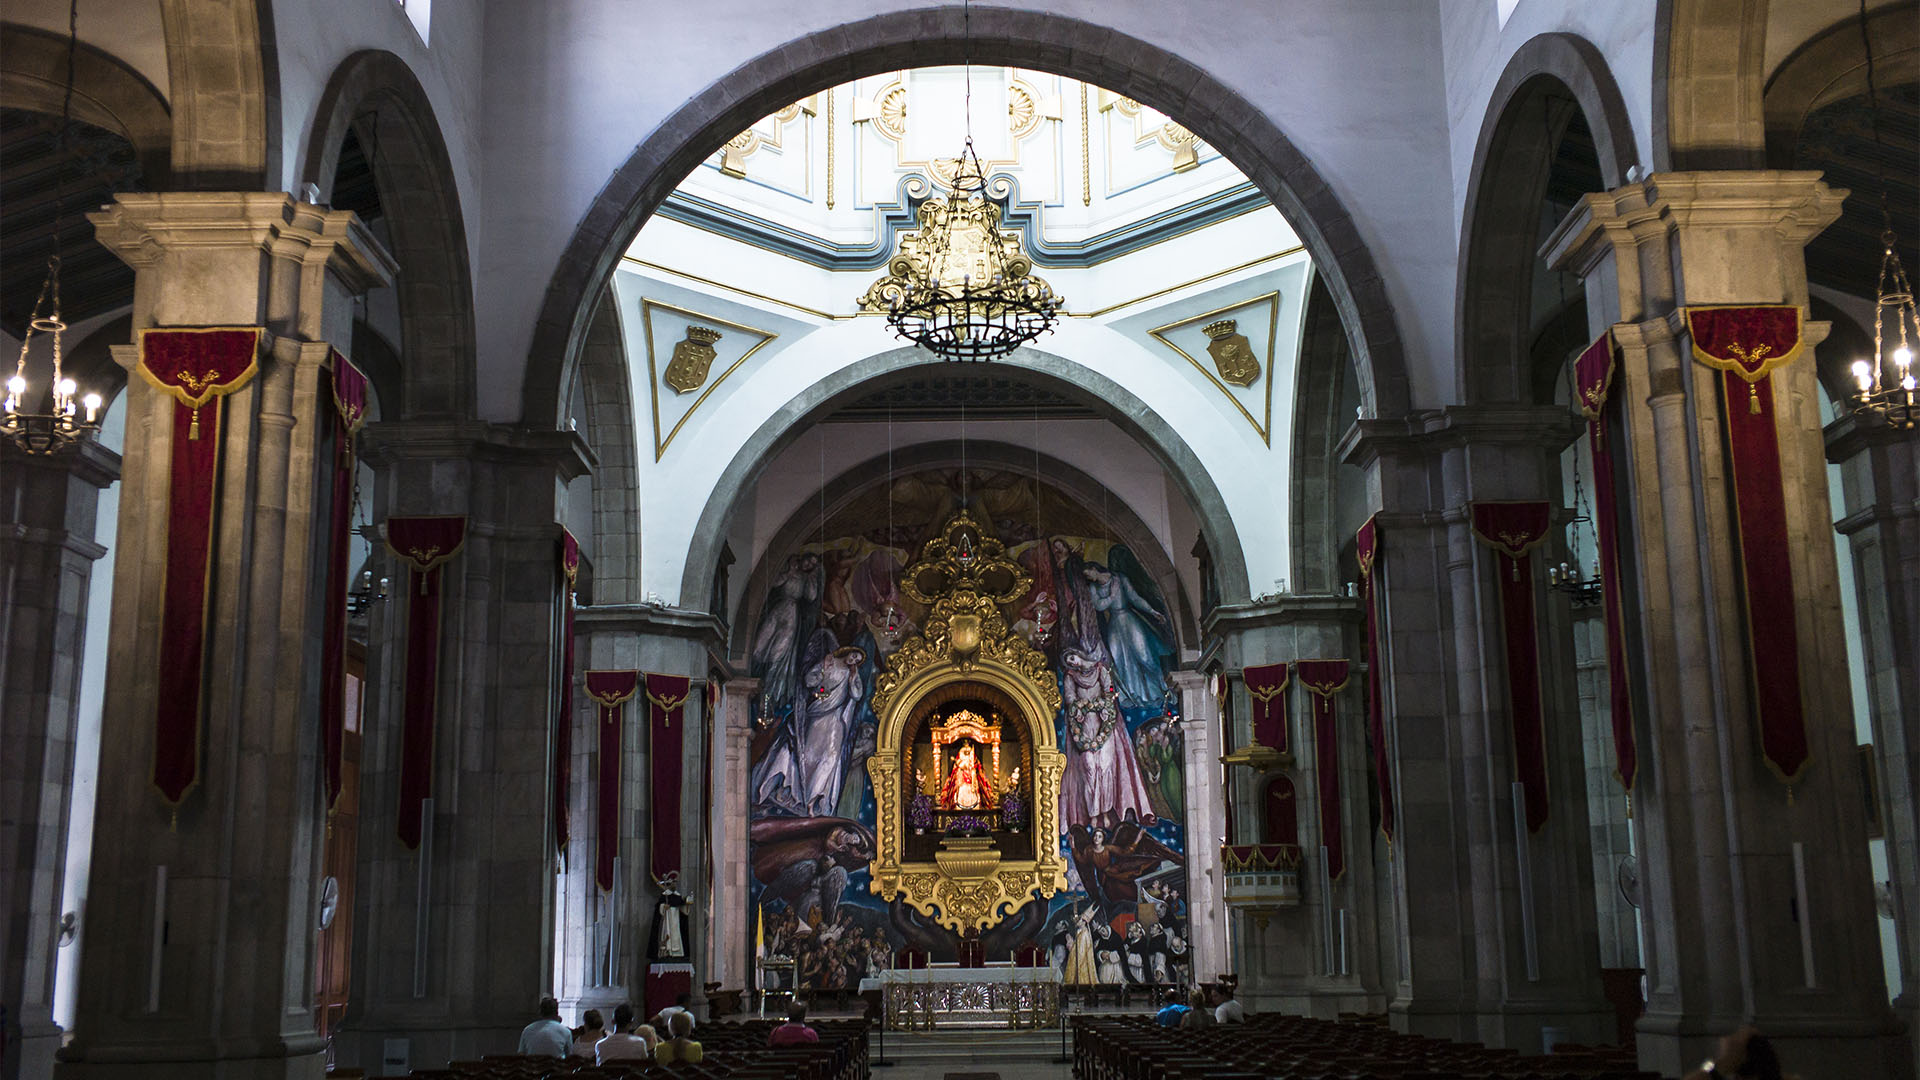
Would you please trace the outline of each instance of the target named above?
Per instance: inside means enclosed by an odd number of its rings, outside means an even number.
[[[1033,275],[1020,240],[1000,234],[1000,206],[973,150],[972,6],[962,10],[966,142],[947,194],[920,204],[920,242],[895,256],[877,286],[893,332],[948,361],[1002,357],[1050,332],[1060,298]]]

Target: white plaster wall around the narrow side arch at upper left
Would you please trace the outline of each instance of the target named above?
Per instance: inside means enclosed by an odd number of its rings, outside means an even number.
[[[484,10],[478,4],[438,4],[430,40],[394,0],[275,0],[273,33],[280,63],[280,184],[298,192],[315,110],[326,83],[349,56],[378,48],[413,69],[447,142],[447,161],[459,186],[467,250],[480,248],[480,115]],[[488,73],[492,79],[492,73]],[[530,194],[530,192],[528,192]],[[518,382],[516,382],[518,384]]]

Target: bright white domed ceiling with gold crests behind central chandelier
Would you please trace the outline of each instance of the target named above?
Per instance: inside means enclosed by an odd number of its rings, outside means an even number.
[[[1267,592],[1288,575],[1286,459],[1313,275],[1300,238],[1231,163],[1135,102],[987,67],[972,71],[972,96],[1002,227],[1020,233],[1035,273],[1066,298],[1056,332],[1033,348],[1066,361],[1064,377],[1079,386],[1110,380],[1110,413],[1150,409],[1175,432],[1235,532],[1260,538],[1242,553],[1252,592]],[[762,486],[753,509],[714,505],[728,467],[756,454],[755,438],[793,423],[776,419],[793,402],[854,365],[937,363],[902,350],[858,298],[887,275],[918,202],[943,190],[966,133],[964,100],[962,69],[918,69],[797,102],[695,169],[628,248],[614,298],[637,427],[643,592],[678,596],[701,528],[743,528],[735,555],[753,565],[758,550],[741,548],[758,548],[768,523],[808,498]],[[1233,334],[1246,338],[1252,377],[1244,361],[1227,377],[1208,352]],[[701,363],[670,377],[682,344],[707,344],[712,356],[693,350]],[[1114,490],[1137,490],[1142,480],[1116,469],[1137,473],[1154,457],[1110,419],[1079,423],[1085,430],[1058,440],[1062,459],[1108,475]],[[902,434],[954,430],[948,421]],[[849,432],[841,442],[828,448],[828,475],[858,461],[872,438]],[[1181,477],[1167,480],[1150,484],[1181,486]],[[733,511],[758,527],[726,521]],[[1173,534],[1187,513],[1146,515],[1175,563],[1194,540]]]

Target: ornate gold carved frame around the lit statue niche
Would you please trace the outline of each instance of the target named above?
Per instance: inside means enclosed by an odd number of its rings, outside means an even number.
[[[1033,897],[1066,888],[1066,863],[1052,842],[1060,834],[1060,776],[1066,771],[1066,755],[1054,738],[1060,684],[1046,657],[1008,628],[1000,615],[1002,603],[1014,603],[1031,586],[1033,580],[1006,557],[998,538],[966,511],[956,513],[900,580],[902,592],[927,605],[922,632],[900,642],[874,680],[879,736],[868,773],[874,776],[879,847],[870,867],[870,888],[881,899],[906,899],[952,930],[987,926]],[[958,847],[941,851],[943,859],[935,863],[902,859],[906,723],[929,692],[950,682],[983,682],[1020,703],[1018,723],[1027,724],[1033,746],[1033,859],[1000,861],[998,851],[972,853],[962,840],[948,842]]]

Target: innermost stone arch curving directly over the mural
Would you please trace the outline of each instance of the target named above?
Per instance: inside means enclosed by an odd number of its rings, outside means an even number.
[[[962,461],[962,448],[958,440],[920,442],[897,450],[891,459],[893,469],[902,473],[916,469],[941,469],[958,465]],[[1021,477],[1043,479],[1056,490],[1079,502],[1089,513],[1092,513],[1096,505],[1104,507],[1096,513],[1096,517],[1102,517],[1102,521],[1114,530],[1114,536],[1127,544],[1127,548],[1140,559],[1140,565],[1146,567],[1146,573],[1154,577],[1154,584],[1158,584],[1162,594],[1169,598],[1181,644],[1192,650],[1200,648],[1200,630],[1192,598],[1187,594],[1187,586],[1175,571],[1173,552],[1169,552],[1160,538],[1154,536],[1154,530],[1140,521],[1140,515],[1135,513],[1123,500],[1114,496],[1106,484],[1050,454],[1041,454],[1039,467],[1035,467],[1033,448],[1014,442],[968,440],[966,463],[970,469],[991,467],[1018,473]],[[783,559],[814,534],[820,523],[822,503],[826,517],[833,517],[833,513],[847,505],[847,502],[854,496],[883,482],[887,482],[887,457],[870,457],[841,471],[837,477],[831,477],[822,488],[820,500],[801,503],[791,515],[787,515],[787,521],[774,530],[774,538],[768,542],[766,550],[758,553],[758,559],[755,559],[753,573],[747,577],[739,600],[733,603],[737,617],[730,623],[730,626],[733,630],[735,651],[745,651],[747,638],[753,634],[753,625],[758,617],[758,605],[766,598],[778,559]]]

